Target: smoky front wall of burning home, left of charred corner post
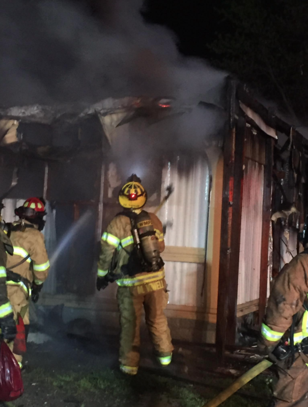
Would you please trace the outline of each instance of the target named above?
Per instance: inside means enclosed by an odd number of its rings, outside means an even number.
[[[86,109],[36,106],[1,113],[2,190],[9,187],[14,168],[19,174],[18,185],[4,200],[3,218],[13,220],[19,199],[36,195],[48,200],[44,233],[52,270],[41,304],[65,304],[66,322],[85,316],[111,329],[117,326],[115,287],[95,291],[97,243],[120,210],[119,187],[137,172],[147,187],[147,208],[156,208],[168,185],[174,187],[159,213],[166,228],[168,316],[185,339],[192,339],[192,323],[201,324],[195,332],[201,340],[207,332],[203,304],[209,300],[204,258],[207,235],[213,234],[208,221],[218,208],[214,197],[210,205],[211,190],[217,194],[211,178],[221,156],[219,134],[213,131],[223,129],[224,109],[182,106],[168,98],[126,98]],[[201,128],[206,121],[207,128]],[[178,142],[189,129],[195,133],[191,141]]]

